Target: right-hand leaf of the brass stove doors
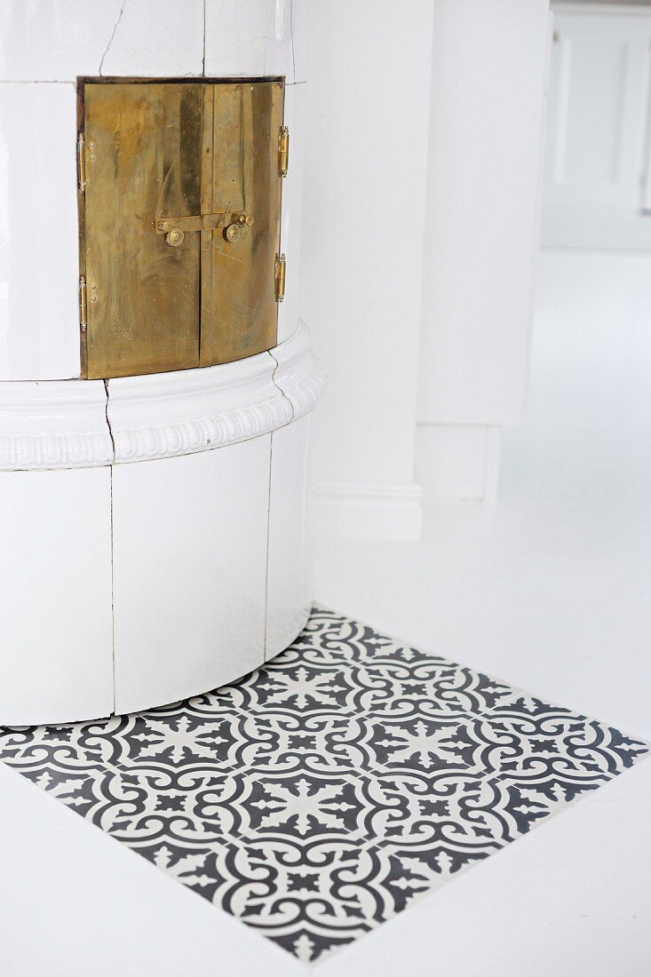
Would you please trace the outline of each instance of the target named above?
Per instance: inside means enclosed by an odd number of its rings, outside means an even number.
[[[205,86],[201,213],[230,216],[201,231],[202,366],[276,345],[283,95],[278,81]],[[229,240],[238,214],[252,223]]]

